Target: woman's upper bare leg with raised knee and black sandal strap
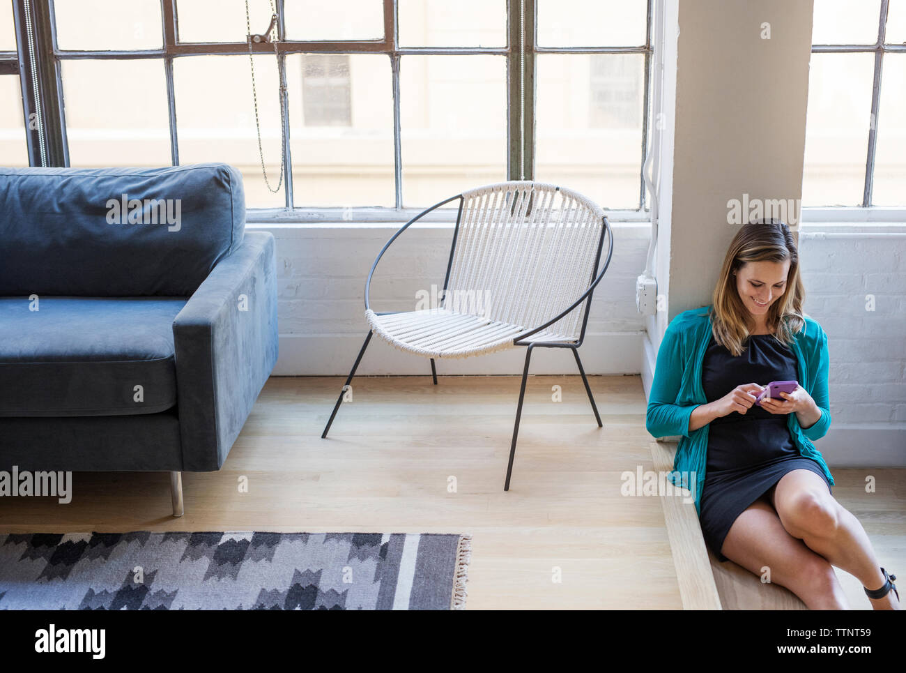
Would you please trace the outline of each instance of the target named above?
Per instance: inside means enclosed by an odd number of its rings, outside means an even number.
[[[868,589],[883,586],[881,566],[865,529],[834,499],[824,479],[811,470],[793,470],[776,483],[769,496],[786,532]],[[900,609],[892,590],[882,599],[869,600],[875,610]]]

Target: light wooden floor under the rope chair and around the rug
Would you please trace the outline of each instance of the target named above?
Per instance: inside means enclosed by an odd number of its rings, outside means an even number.
[[[0,498],[0,532],[468,532],[470,610],[681,609],[695,596],[713,600],[713,580],[697,575],[707,561],[682,561],[700,532],[668,532],[665,512],[673,515],[660,497],[621,494],[624,471],[658,469],[641,378],[590,380],[603,428],[578,376],[529,379],[508,493],[517,376],[448,376],[436,386],[430,376],[356,378],[326,440],[342,379],[272,378],[223,469],[184,473],[183,518],[169,516],[166,473],[76,473],[68,505]],[[552,400],[554,385],[562,402]],[[843,487],[834,491],[885,567],[906,577],[906,471],[872,473],[879,493],[859,492],[861,472],[837,477]],[[239,493],[243,478],[248,493]],[[750,600],[747,579],[730,583],[731,599]],[[859,598],[858,582],[844,586]],[[725,593],[725,607],[737,607]]]

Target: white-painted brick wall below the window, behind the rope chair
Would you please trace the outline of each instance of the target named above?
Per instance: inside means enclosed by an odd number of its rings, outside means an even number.
[[[365,278],[374,258],[400,225],[248,225],[275,235],[280,359],[276,375],[347,375],[368,331]],[[651,227],[612,223],[613,257],[595,289],[580,355],[590,374],[641,371],[644,319],[636,312],[635,279],[645,266]],[[416,292],[443,288],[452,225],[413,225],[381,258],[371,285],[376,311],[412,310]],[[606,241],[605,241],[606,245]],[[438,362],[439,374],[521,374],[524,348]],[[575,372],[561,349],[532,358],[536,374]],[[427,359],[371,340],[361,374],[425,374]]]

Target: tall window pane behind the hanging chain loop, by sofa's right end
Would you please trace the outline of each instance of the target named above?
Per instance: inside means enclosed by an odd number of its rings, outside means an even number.
[[[258,114],[267,178],[280,180],[280,100],[276,59],[255,55]],[[179,139],[179,163],[218,161],[243,176],[249,208],[285,205],[284,189],[265,186],[255,132],[255,107],[248,55],[189,56],[173,62]]]

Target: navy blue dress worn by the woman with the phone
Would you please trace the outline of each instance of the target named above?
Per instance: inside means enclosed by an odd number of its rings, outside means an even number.
[[[711,335],[702,363],[701,385],[708,402],[727,395],[737,385],[798,379],[796,358],[774,335],[751,335],[745,350],[734,357]],[[699,523],[705,542],[719,561],[730,526],[786,473],[798,469],[820,474],[821,465],[800,455],[786,426],[787,415],[771,414],[752,405],[746,414],[733,412],[708,425],[708,463],[699,502]]]

